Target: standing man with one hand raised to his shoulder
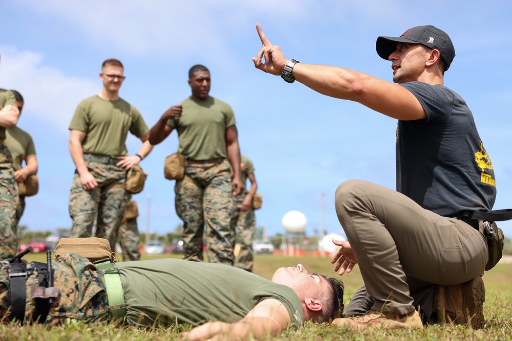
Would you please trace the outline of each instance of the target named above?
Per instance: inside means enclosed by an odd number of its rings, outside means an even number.
[[[164,112],[149,140],[158,144],[178,130],[178,152],[185,157],[185,177],[175,186],[176,213],[183,220],[183,259],[203,261],[206,224],[208,261],[233,265],[229,225],[233,195],[243,190],[236,121],[228,104],[208,95],[210,72],[205,66],[191,67],[188,77],[192,95]]]

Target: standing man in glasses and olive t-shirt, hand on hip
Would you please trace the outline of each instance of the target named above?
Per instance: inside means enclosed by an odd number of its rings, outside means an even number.
[[[69,148],[76,166],[69,200],[71,237],[91,237],[97,219],[95,236],[108,239],[113,249],[128,200],[126,171],[153,149],[139,110],[119,98],[123,72],[120,61],[105,60],[99,74],[101,93],[78,105],[69,126]],[[142,141],[132,156],[125,145],[128,131]]]

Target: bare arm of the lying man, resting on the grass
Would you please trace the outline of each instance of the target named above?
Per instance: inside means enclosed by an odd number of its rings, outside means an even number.
[[[252,336],[262,339],[275,336],[290,324],[290,315],[278,300],[268,299],[258,303],[244,319],[236,323],[210,322],[184,332],[181,339],[199,340],[245,340]]]

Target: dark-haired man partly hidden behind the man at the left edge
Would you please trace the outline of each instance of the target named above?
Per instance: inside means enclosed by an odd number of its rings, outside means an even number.
[[[23,96],[16,90],[11,90],[11,92],[16,99],[19,115],[22,115],[24,104]],[[5,144],[12,155],[14,180],[17,184],[23,183],[30,175],[37,174],[37,157],[35,155],[34,141],[28,132],[18,127],[7,128]],[[25,167],[23,167],[24,161]],[[20,193],[18,206],[16,207],[14,234],[17,232],[19,219],[22,217],[23,212],[25,212],[25,195]]]

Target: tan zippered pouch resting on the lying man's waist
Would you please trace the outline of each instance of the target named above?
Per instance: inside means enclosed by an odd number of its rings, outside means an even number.
[[[110,248],[109,241],[103,238],[60,238],[55,248],[55,260],[69,252],[85,257],[91,262],[105,258],[109,258],[112,263],[117,261],[116,253]]]

